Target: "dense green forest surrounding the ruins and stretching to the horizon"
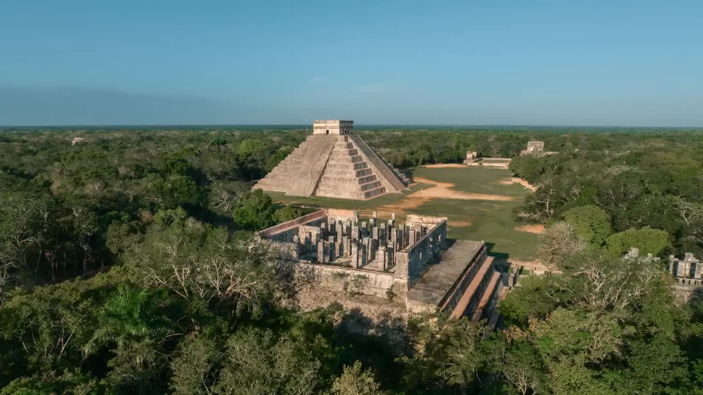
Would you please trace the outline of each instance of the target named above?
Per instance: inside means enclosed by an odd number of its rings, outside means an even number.
[[[301,214],[259,179],[304,131],[0,132],[0,394],[703,394],[703,309],[666,257],[702,249],[703,134],[360,131],[398,167],[555,155],[538,189],[541,259],[505,329],[295,307],[251,232]],[[75,137],[83,138],[72,145]]]

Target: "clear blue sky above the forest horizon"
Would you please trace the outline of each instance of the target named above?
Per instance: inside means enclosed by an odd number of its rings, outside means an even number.
[[[0,124],[703,127],[700,0],[0,0]]]

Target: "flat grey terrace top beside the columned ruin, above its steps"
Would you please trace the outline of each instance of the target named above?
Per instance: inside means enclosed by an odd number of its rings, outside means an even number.
[[[485,244],[470,240],[450,240],[450,243],[439,263],[430,266],[425,275],[411,286],[408,291],[408,305],[412,304],[417,310],[435,311],[444,310],[445,306],[456,305],[467,286],[465,283],[470,281],[467,274],[472,277],[468,272],[485,259],[485,256],[481,257],[482,254],[485,255]],[[455,298],[455,295],[458,297]],[[452,302],[452,299],[457,301]]]

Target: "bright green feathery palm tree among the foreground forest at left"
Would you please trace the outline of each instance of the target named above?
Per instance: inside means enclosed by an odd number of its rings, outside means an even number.
[[[115,343],[125,347],[144,339],[159,339],[174,332],[174,324],[160,315],[157,298],[148,290],[120,284],[98,316],[98,330],[83,348],[88,356],[96,348]]]

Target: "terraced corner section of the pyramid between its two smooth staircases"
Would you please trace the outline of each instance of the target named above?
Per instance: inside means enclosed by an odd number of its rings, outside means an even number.
[[[366,200],[386,193],[373,169],[347,136],[341,136],[330,153],[314,195]]]

